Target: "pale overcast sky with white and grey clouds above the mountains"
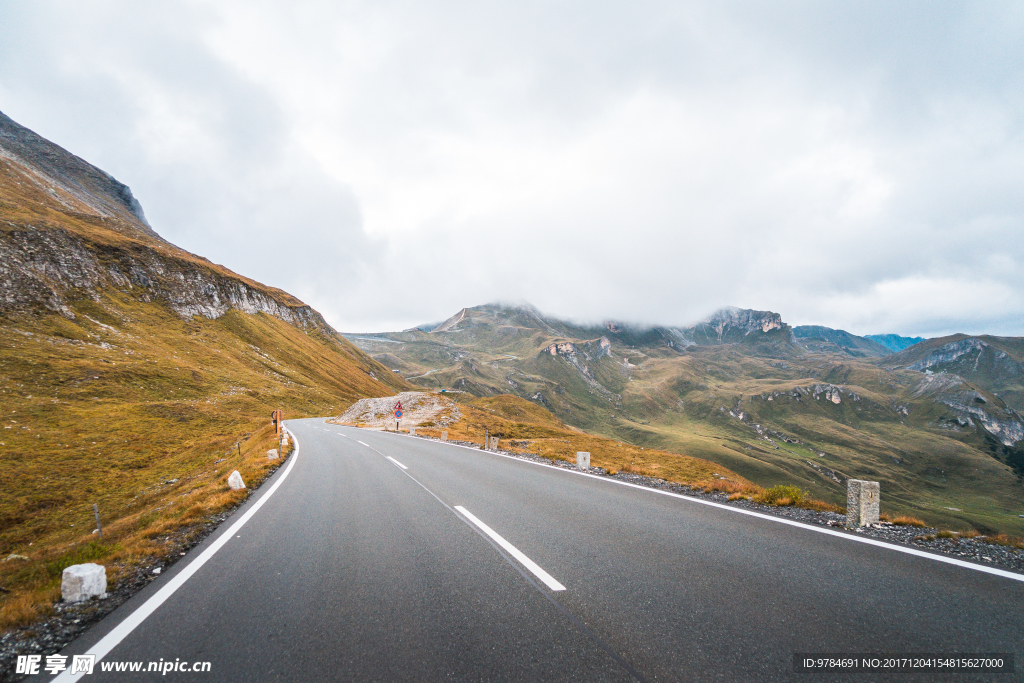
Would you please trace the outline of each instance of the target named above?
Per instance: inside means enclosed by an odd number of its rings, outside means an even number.
[[[346,332],[1024,336],[1019,2],[13,2],[0,111]]]

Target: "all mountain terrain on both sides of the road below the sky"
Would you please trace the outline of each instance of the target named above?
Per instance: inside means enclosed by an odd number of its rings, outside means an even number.
[[[870,478],[893,513],[1024,531],[1020,339],[858,337],[740,308],[586,325],[528,304],[341,335],[169,243],[127,185],[3,114],[0,274],[0,629],[51,609],[63,567],[128,580],[244,501],[224,481],[272,471],[271,411],[338,415],[416,388],[481,397],[463,404],[467,438],[500,425],[614,444],[624,468],[656,451],[665,476],[840,505],[847,478]]]

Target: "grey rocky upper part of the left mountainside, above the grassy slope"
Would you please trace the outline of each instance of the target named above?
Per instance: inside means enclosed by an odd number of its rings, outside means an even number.
[[[337,333],[294,297],[167,243],[127,185],[0,114],[0,313],[119,290],[182,317],[230,309]]]

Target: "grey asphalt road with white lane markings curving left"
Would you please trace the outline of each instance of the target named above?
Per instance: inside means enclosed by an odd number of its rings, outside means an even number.
[[[795,652],[1012,652],[1024,672],[1020,581],[453,444],[288,426],[294,465],[63,652],[194,571],[103,661],[210,672],[82,680],[1024,678],[794,672]]]

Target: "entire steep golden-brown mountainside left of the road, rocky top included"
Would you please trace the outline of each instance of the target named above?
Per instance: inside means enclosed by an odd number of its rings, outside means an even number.
[[[0,557],[27,558],[0,563],[0,628],[48,609],[76,558],[116,581],[244,499],[223,479],[262,476],[272,410],[331,415],[407,388],[315,310],[169,244],[127,186],[0,115]]]

